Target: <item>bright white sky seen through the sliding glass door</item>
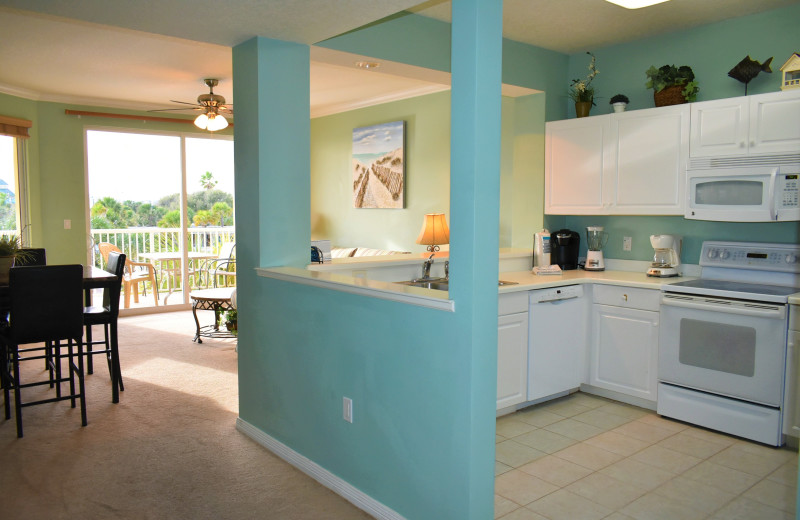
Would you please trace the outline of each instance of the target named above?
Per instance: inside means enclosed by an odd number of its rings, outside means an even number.
[[[89,198],[157,202],[181,189],[181,140],[172,135],[87,132]],[[0,156],[1,157],[1,156]],[[217,189],[233,193],[233,141],[186,138],[186,189],[202,190],[210,171]]]

